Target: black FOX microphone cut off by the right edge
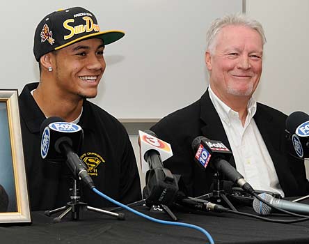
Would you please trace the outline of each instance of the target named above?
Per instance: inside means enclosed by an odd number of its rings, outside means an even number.
[[[285,128],[287,140],[292,141],[290,153],[298,158],[309,158],[309,115],[293,112],[287,116]]]

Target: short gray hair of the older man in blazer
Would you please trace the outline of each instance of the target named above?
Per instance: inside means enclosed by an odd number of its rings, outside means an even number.
[[[264,30],[260,22],[253,20],[251,17],[241,13],[230,14],[214,20],[210,25],[209,30],[207,31],[207,50],[209,50],[209,52],[214,52],[214,48],[216,47],[216,36],[221,31],[221,29],[223,29],[223,27],[228,25],[248,26],[249,28],[258,31],[262,38],[263,45],[266,43]]]

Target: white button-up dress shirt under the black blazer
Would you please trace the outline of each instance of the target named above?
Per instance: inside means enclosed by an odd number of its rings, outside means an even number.
[[[274,163],[253,119],[257,107],[255,99],[248,102],[248,114],[242,126],[238,112],[225,105],[210,86],[208,91],[230,142],[237,171],[255,190],[278,192],[284,197]]]

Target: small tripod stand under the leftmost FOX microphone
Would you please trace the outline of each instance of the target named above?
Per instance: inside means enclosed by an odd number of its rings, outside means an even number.
[[[72,195],[70,196],[71,201],[69,201],[65,206],[62,206],[61,208],[45,211],[45,215],[51,216],[54,213],[63,211],[61,215],[53,219],[55,223],[61,222],[61,220],[65,217],[65,215],[68,215],[68,213],[71,213],[71,220],[79,220],[79,212],[80,209],[82,209],[82,210],[93,211],[96,213],[104,213],[106,215],[118,218],[118,220],[125,220],[124,213],[113,213],[111,211],[106,211],[101,208],[94,208],[92,206],[88,206],[88,204],[86,204],[85,202],[79,201],[80,198],[81,197],[79,195],[79,181],[73,178],[73,189],[72,189]]]

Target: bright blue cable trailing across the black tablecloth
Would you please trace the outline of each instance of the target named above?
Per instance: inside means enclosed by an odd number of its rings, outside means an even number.
[[[153,221],[153,222],[157,222],[159,224],[168,224],[168,225],[176,225],[176,226],[181,226],[181,227],[188,227],[191,229],[196,229],[200,232],[202,232],[203,234],[205,234],[205,236],[207,236],[209,243],[210,244],[214,244],[214,240],[212,239],[212,236],[210,236],[210,234],[203,228],[198,227],[194,224],[187,224],[187,223],[182,223],[182,222],[171,222],[171,221],[166,221],[166,220],[158,220],[156,218],[152,218],[148,215],[145,215],[143,213],[140,213],[138,211],[136,211],[133,208],[130,208],[129,206],[125,205],[125,204],[121,204],[119,201],[116,201],[114,199],[112,199],[111,197],[105,195],[104,193],[100,192],[99,190],[97,190],[96,188],[93,188],[93,192],[97,193],[97,195],[100,195],[101,197],[104,197],[105,199],[111,201],[113,204],[116,204],[122,208],[127,209],[127,211],[131,211],[132,213],[135,213],[136,215],[139,215],[147,220]]]

